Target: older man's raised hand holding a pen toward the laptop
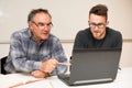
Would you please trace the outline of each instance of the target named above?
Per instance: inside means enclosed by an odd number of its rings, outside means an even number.
[[[55,69],[57,64],[58,62],[55,58],[51,58],[42,63],[41,70],[44,73],[52,73]]]

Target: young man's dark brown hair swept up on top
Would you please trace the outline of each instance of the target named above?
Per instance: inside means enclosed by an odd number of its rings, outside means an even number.
[[[97,4],[92,7],[89,11],[89,16],[91,13],[97,14],[97,15],[103,15],[106,16],[106,20],[108,20],[108,8],[105,4]]]

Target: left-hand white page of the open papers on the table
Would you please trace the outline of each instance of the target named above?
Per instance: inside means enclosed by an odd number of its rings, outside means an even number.
[[[0,88],[11,88],[12,86],[33,81],[36,82],[38,79],[34,78],[29,74],[8,74],[0,77]]]

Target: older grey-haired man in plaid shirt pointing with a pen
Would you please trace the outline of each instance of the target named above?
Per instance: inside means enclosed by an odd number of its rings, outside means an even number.
[[[52,16],[45,9],[32,10],[28,18],[29,28],[11,36],[7,73],[31,73],[44,78],[65,73],[67,62],[59,40],[51,34]]]

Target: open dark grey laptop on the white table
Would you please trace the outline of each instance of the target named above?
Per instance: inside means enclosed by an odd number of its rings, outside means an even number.
[[[70,74],[58,78],[68,86],[113,81],[117,77],[121,48],[74,50]]]

